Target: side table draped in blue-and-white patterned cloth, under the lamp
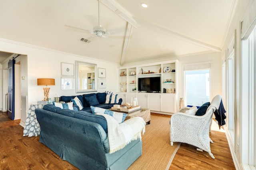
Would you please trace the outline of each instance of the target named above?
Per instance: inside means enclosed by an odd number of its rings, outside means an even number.
[[[28,109],[28,117],[26,119],[23,136],[37,136],[40,135],[40,125],[36,119],[35,109],[43,108],[44,104],[31,104]]]

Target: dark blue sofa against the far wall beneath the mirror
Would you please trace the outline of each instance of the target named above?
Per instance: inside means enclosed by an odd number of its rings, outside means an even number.
[[[106,103],[106,96],[107,94],[105,92],[103,93],[92,93],[92,94],[83,94],[83,95],[77,95],[79,100],[81,101],[83,105],[82,111],[87,111],[92,113],[92,110],[90,106],[95,107],[101,107],[104,109],[111,109],[111,107],[114,104],[122,104],[122,98],[117,99],[115,103]],[[60,101],[68,103],[71,101],[71,99],[74,99],[76,96],[60,96]],[[78,108],[79,110],[79,108]]]

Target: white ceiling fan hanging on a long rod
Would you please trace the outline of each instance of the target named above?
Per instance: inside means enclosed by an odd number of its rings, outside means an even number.
[[[98,0],[98,25],[93,27],[92,31],[90,31],[88,29],[74,27],[71,25],[65,25],[65,26],[75,28],[75,29],[80,29],[82,31],[87,31],[91,34],[94,34],[86,39],[91,39],[91,38],[95,38],[95,37],[107,38],[108,36],[110,36],[110,33],[108,31],[106,31],[106,29],[102,25],[100,25],[100,0]],[[118,36],[118,37],[124,37],[124,36]]]

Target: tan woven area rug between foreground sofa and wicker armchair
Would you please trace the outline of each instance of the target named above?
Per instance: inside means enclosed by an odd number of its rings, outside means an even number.
[[[146,132],[142,135],[142,155],[128,170],[168,170],[180,147],[170,145],[170,118],[151,115]]]

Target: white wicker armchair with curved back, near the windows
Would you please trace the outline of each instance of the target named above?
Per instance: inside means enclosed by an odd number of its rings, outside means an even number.
[[[210,102],[210,106],[206,110],[205,115],[196,116],[185,113],[174,113],[170,119],[170,142],[187,143],[205,150],[214,159],[210,149],[212,140],[209,136],[209,127],[212,122],[212,115],[219,108],[221,96],[217,95]],[[182,107],[180,111],[186,111],[186,107]]]

